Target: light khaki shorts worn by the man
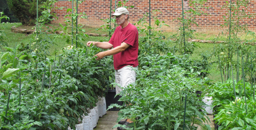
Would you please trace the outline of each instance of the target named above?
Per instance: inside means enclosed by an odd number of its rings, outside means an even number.
[[[116,74],[116,83],[121,86],[121,88],[126,88],[131,83],[134,83],[136,80],[136,72],[134,69],[138,70],[137,67],[125,66],[119,70],[115,70]],[[116,85],[116,94],[119,94],[122,89]]]

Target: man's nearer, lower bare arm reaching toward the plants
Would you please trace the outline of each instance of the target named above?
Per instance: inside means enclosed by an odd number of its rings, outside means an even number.
[[[121,45],[111,49],[111,50],[108,50],[108,51],[103,51],[103,52],[100,52],[98,54],[96,54],[95,56],[97,56],[97,60],[99,59],[102,59],[103,57],[105,56],[111,56],[111,55],[114,55],[114,54],[118,54],[119,52],[122,52],[122,51],[125,51],[125,49],[127,49],[130,45],[125,43],[125,42],[122,42]],[[94,56],[94,57],[95,57]]]

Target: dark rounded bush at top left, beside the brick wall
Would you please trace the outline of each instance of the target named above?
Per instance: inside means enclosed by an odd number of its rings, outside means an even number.
[[[43,8],[40,8],[47,0],[38,0],[38,15],[41,15]],[[37,0],[8,0],[10,11],[23,25],[35,24],[37,15]]]

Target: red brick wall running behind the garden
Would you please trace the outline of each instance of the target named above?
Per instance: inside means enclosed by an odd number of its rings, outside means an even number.
[[[78,7],[78,13],[84,12],[85,14],[87,14],[88,19],[81,19],[79,21],[79,24],[83,24],[85,26],[90,27],[100,27],[101,25],[103,25],[104,22],[101,19],[107,19],[110,17],[110,1],[111,0],[84,0]],[[123,0],[116,1],[118,2]],[[225,31],[227,28],[221,28],[220,25],[224,24],[222,16],[226,16],[226,14],[229,13],[229,10],[221,9],[226,4],[226,1],[229,0],[208,0],[207,3],[204,4],[204,6],[209,8],[202,9],[208,15],[196,17],[196,22],[198,23],[199,26],[197,27],[195,25],[192,25],[192,29],[204,33],[219,33],[221,31]],[[115,8],[114,2],[115,0],[112,0],[112,9]],[[188,1],[184,0],[183,4],[185,10],[192,8],[191,6],[189,6]],[[255,5],[256,0],[250,0],[249,6],[243,9],[246,12],[254,14],[256,13]],[[67,14],[67,8],[72,8],[72,2],[58,1],[58,3],[55,3],[55,6],[65,8],[52,11],[53,13],[56,13],[58,17],[58,20],[53,21],[53,23],[63,23],[65,21],[64,16]],[[76,4],[74,4],[74,6],[76,6]],[[143,14],[149,11],[149,0],[129,0],[125,4],[125,6],[134,6],[134,8],[128,9],[130,13],[129,21],[130,23],[137,23],[140,20],[140,18],[143,18]],[[165,23],[170,26],[163,26],[161,30],[177,31],[177,28],[178,26],[180,26],[180,23],[175,19],[182,15],[181,0],[151,0],[151,11],[155,9],[159,9],[162,12],[162,14],[155,14],[158,16],[158,19],[160,21],[165,21]],[[113,11],[111,12],[111,14],[112,13]],[[247,24],[249,30],[256,31],[255,21],[256,20],[252,17],[250,19],[247,18],[241,21],[240,24]],[[153,20],[151,21],[151,25],[152,24]]]

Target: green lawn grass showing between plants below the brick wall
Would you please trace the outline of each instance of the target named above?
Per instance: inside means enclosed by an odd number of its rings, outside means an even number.
[[[34,26],[23,26],[21,25],[21,23],[8,23],[5,24],[3,26],[3,24],[0,24],[0,28],[2,28],[5,31],[6,34],[6,38],[4,38],[4,40],[8,43],[8,45],[10,47],[14,47],[15,44],[20,44],[20,43],[31,43],[33,41],[35,41],[35,34],[20,34],[20,33],[14,33],[11,31],[11,27],[12,26],[16,26],[17,28],[26,28],[27,30],[32,30]],[[61,28],[61,26],[59,24],[54,24],[53,26],[49,26],[50,28],[54,29],[54,28]],[[96,31],[96,28],[92,28],[92,27],[82,27],[82,29],[85,30],[85,32],[87,33],[95,33],[95,34],[108,34],[108,31],[106,30],[98,30]],[[163,33],[166,36],[166,41],[169,40],[168,37],[170,37],[171,35],[173,35],[174,33],[170,33],[170,32],[164,32]],[[55,49],[57,50],[61,50],[64,47],[70,46],[69,44],[67,44],[67,42],[65,40],[63,40],[61,37],[56,37],[58,35],[56,34],[43,34],[42,37],[49,37],[50,39],[52,39],[55,43],[55,45],[53,45],[52,48],[49,49],[50,53],[53,55],[53,52],[55,51]],[[224,41],[227,39],[227,36],[225,35],[216,35],[216,34],[205,34],[205,33],[195,33],[194,35],[195,39],[199,39],[199,40],[220,40],[220,41]],[[241,36],[241,40],[246,40],[246,39],[250,39],[252,37],[250,37],[249,35],[242,35]],[[85,37],[84,41],[80,41],[82,42],[84,45],[86,45],[87,41],[108,41],[108,37],[93,37],[93,36],[89,36],[89,37]],[[75,42],[73,42],[73,45],[75,46]],[[169,46],[172,47],[175,44],[173,42],[168,42]],[[192,54],[192,59],[201,59],[201,57],[199,56],[199,54],[206,54],[206,53],[212,53],[215,44],[213,43],[201,43],[201,42],[195,42],[193,43],[196,46],[198,46],[198,48],[195,48],[194,53]],[[1,51],[4,51],[3,49]],[[59,51],[57,54],[60,54],[61,51]],[[53,57],[49,57],[49,58],[53,58]],[[210,70],[210,75],[209,78],[214,80],[214,82],[216,81],[221,81],[221,76],[220,76],[220,71],[219,68],[217,68],[218,66],[218,57],[212,57],[212,59],[210,59],[209,62],[213,62],[212,65],[212,69]],[[236,76],[235,72],[234,75]],[[235,78],[236,79],[236,78]]]

